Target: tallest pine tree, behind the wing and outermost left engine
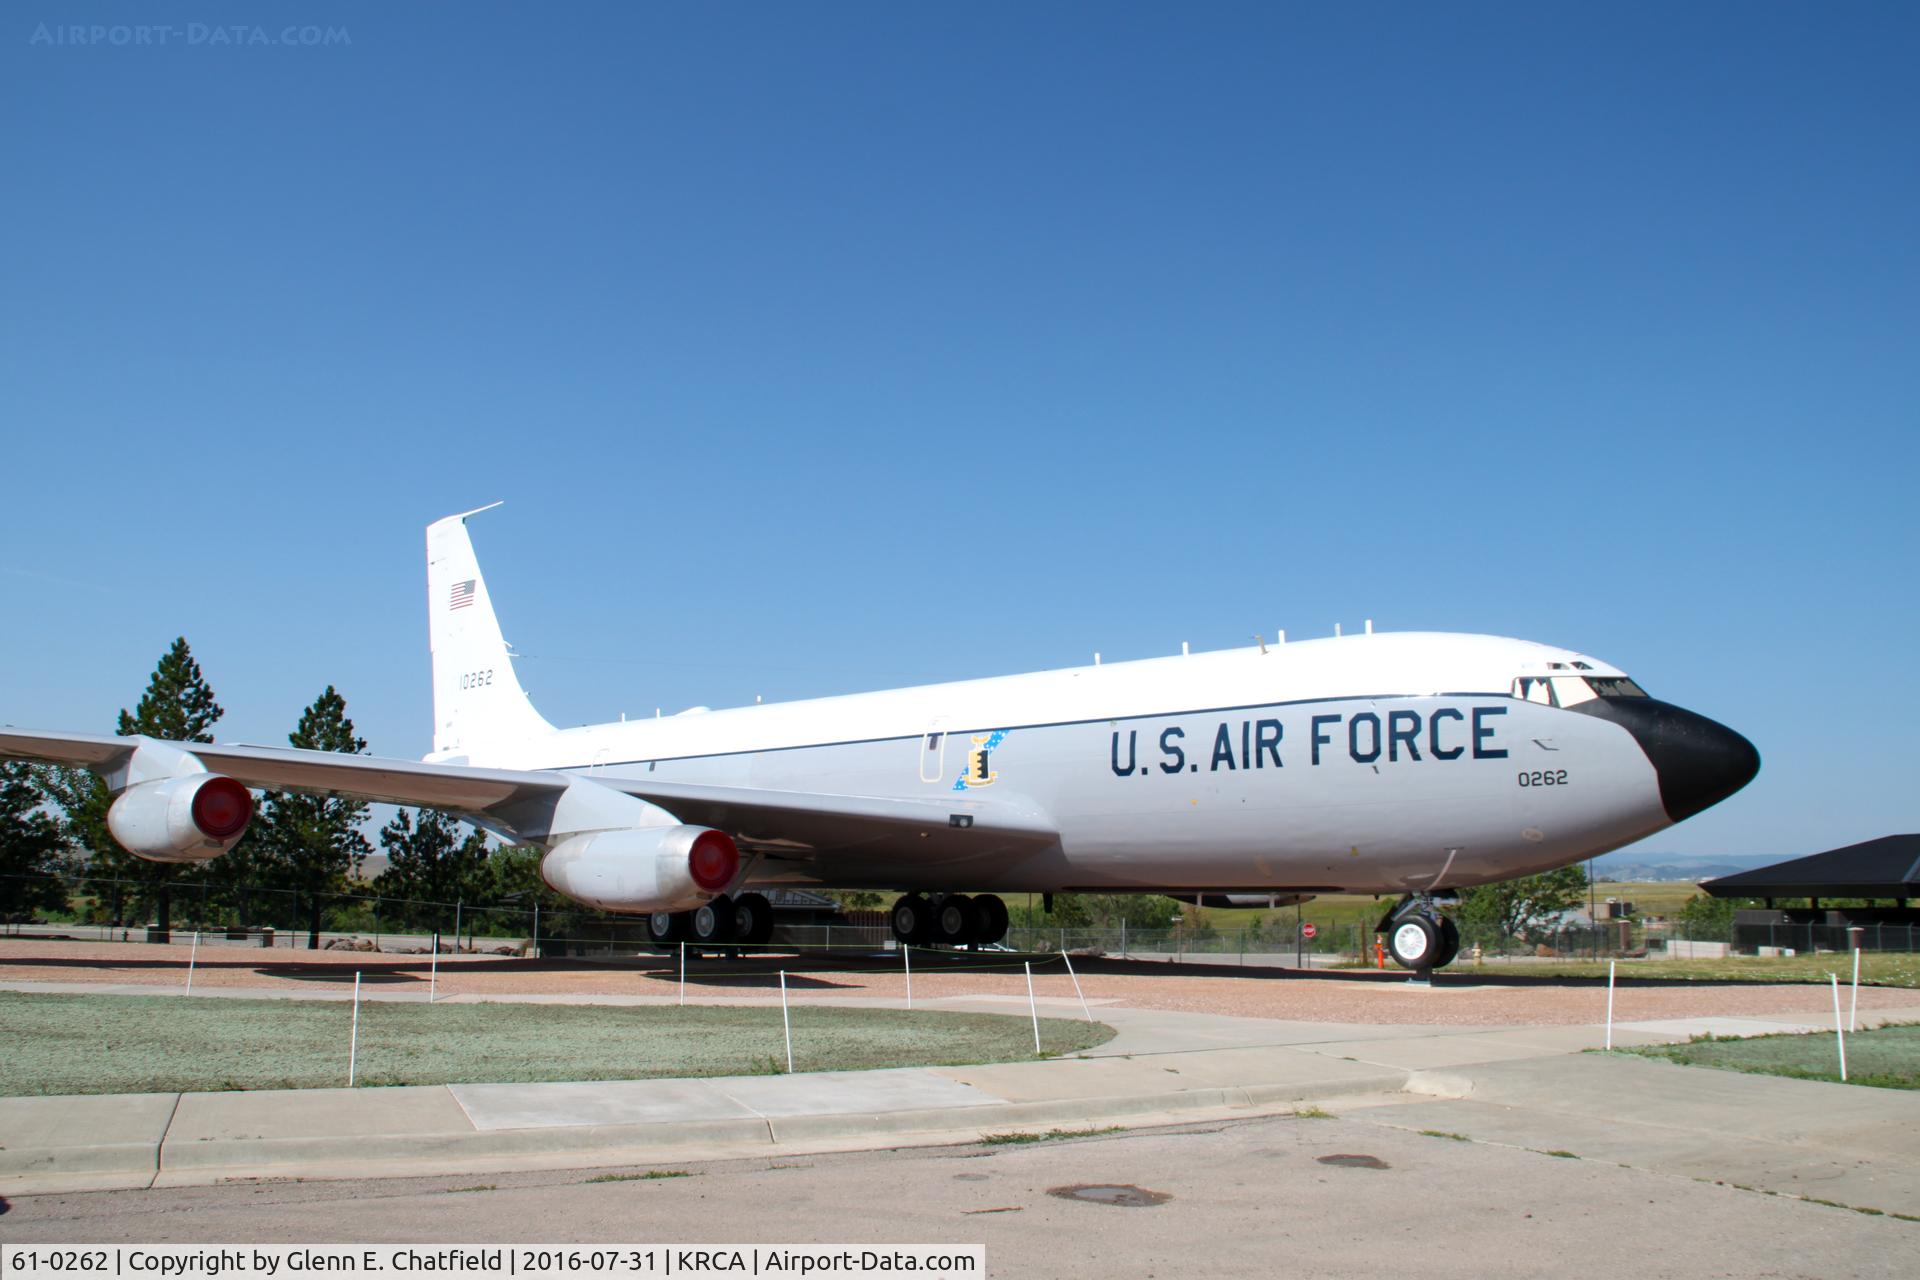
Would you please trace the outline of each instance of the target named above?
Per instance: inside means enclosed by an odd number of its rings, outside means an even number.
[[[186,637],[177,637],[161,654],[154,676],[146,681],[146,693],[134,710],[121,708],[115,733],[132,737],[165,739],[169,743],[211,743],[213,725],[223,716],[213,689],[207,685],[194,651]],[[69,842],[88,850],[90,871],[106,871],[117,879],[136,883],[140,906],[152,902],[159,915],[159,929],[173,927],[173,883],[180,873],[177,864],[148,862],[123,850],[108,831],[108,808],[113,796],[100,777],[88,770],[54,768],[44,773],[46,793],[65,812],[65,837]],[[115,887],[113,917],[121,919],[123,904]]]

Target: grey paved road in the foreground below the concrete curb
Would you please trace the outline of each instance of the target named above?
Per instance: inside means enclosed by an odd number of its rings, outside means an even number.
[[[993,1276],[1910,1276],[1920,1224],[1392,1123],[1256,1119],[1021,1148],[15,1199],[10,1242],[958,1242]],[[1369,1155],[1384,1169],[1319,1163]],[[634,1167],[626,1173],[643,1173]],[[1133,1184],[1116,1207],[1052,1196]]]

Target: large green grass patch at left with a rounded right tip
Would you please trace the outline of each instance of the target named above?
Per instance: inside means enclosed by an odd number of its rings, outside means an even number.
[[[361,1004],[359,1084],[643,1080],[785,1069],[776,1007]],[[344,1002],[0,992],[0,1094],[332,1088]],[[1114,1029],[1041,1019],[1046,1054]],[[1031,1061],[1033,1025],[993,1013],[793,1009],[799,1071]]]

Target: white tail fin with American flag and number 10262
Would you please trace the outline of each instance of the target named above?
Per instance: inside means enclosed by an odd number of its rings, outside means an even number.
[[[499,507],[499,503],[493,503]],[[553,733],[513,674],[467,510],[426,526],[426,633],[434,651],[434,758],[488,756]]]

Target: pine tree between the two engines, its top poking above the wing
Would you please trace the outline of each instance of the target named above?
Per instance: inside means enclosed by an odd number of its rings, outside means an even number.
[[[300,716],[300,727],[286,741],[305,750],[361,754],[367,739],[353,733],[348,702],[332,685]],[[292,889],[307,908],[307,946],[321,946],[321,898],[344,889],[348,873],[372,852],[359,825],[369,806],[342,796],[309,796],[269,791],[255,833],[263,873],[278,887]]]

